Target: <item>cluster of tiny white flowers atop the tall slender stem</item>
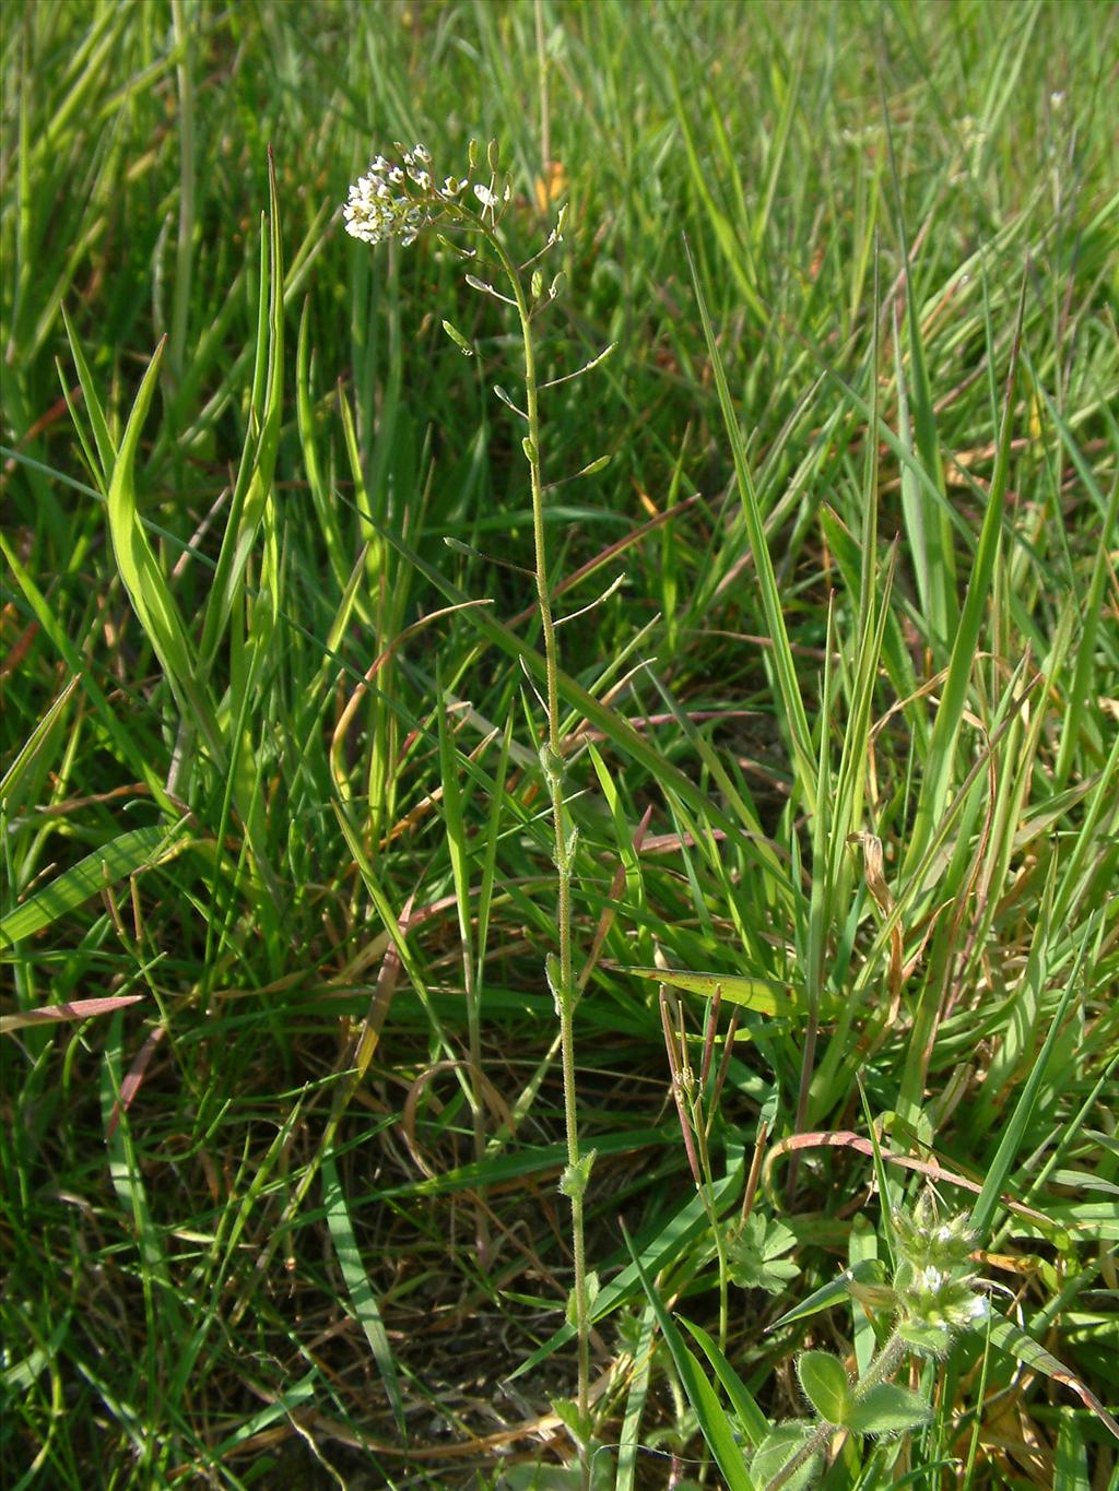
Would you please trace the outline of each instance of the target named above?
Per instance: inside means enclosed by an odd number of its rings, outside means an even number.
[[[364,176],[349,188],[349,198],[342,209],[346,233],[364,243],[386,243],[400,239],[407,248],[415,243],[421,228],[431,222],[457,222],[477,215],[464,206],[464,194],[471,186],[470,174],[446,176],[443,185],[436,185],[431,171],[431,152],[424,145],[406,151],[395,143],[395,158],[383,155],[370,161]],[[473,155],[473,151],[471,151]],[[473,168],[473,167],[471,167]],[[498,194],[494,182],[473,183],[473,195],[480,203],[480,216],[495,221],[497,210],[509,201],[510,186]]]

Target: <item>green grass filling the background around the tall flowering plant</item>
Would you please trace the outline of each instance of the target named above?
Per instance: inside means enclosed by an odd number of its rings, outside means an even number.
[[[564,1451],[539,637],[489,558],[533,562],[516,341],[434,240],[340,231],[392,140],[442,176],[500,139],[522,256],[570,203],[545,377],[618,343],[545,409],[554,479],[610,456],[549,510],[562,608],[625,571],[561,632],[610,1475],[706,1454],[667,1355],[627,1376],[619,1215],[664,1299],[716,1294],[627,966],[788,1003],[747,999],[710,1103],[718,1209],[759,1144],[780,1239],[727,1343],[767,1413],[795,1349],[868,1349],[858,1309],[764,1334],[883,1246],[856,1075],[1115,1403],[1115,55],[1113,6],[1040,0],[6,7],[9,1484]],[[961,1348],[930,1430],[830,1484],[1103,1485],[1083,1402]]]

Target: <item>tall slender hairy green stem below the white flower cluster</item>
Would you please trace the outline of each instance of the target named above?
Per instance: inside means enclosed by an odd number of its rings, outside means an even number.
[[[560,735],[560,646],[555,635],[552,599],[548,583],[548,549],[545,543],[545,482],[540,456],[540,407],[536,380],[536,347],[533,327],[521,277],[497,236],[489,236],[501,268],[516,301],[521,319],[521,335],[525,356],[525,413],[528,416],[528,438],[524,443],[533,495],[533,540],[536,546],[536,595],[540,610],[540,629],[545,643],[548,746],[540,753],[548,790],[552,801],[552,828],[555,833],[557,869],[557,921],[560,927],[560,953],[549,983],[560,1017],[560,1059],[564,1074],[564,1126],[567,1130],[567,1172],[564,1193],[571,1202],[571,1252],[574,1255],[574,1318],[579,1340],[579,1418],[589,1419],[591,1408],[591,1308],[586,1290],[586,1254],[583,1248],[583,1190],[586,1187],[585,1166],[579,1153],[579,1115],[574,1088],[574,1006],[579,992],[571,960],[571,875],[574,869],[574,836],[567,832],[564,811],[564,763]],[[583,1466],[586,1472],[586,1464]]]

